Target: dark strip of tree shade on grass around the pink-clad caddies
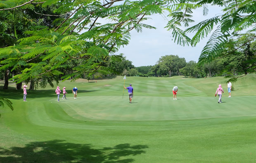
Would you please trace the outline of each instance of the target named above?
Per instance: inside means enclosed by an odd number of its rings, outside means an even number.
[[[61,90],[62,91],[62,90]],[[78,90],[79,93],[87,93],[87,92],[95,92],[97,90]],[[72,90],[66,90],[68,93],[66,96],[72,96]],[[34,99],[34,98],[41,98],[41,97],[57,97],[55,93],[55,89],[52,90],[27,90],[27,99]],[[61,93],[59,97],[62,97],[63,94]],[[0,97],[5,97],[7,99],[23,99],[23,90],[0,90]]]

